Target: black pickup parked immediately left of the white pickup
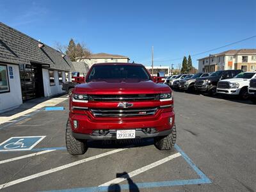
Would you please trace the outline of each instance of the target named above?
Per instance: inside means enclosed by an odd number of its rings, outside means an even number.
[[[195,81],[195,90],[198,92],[206,92],[210,95],[215,95],[217,90],[217,83],[222,79],[230,79],[242,70],[218,70],[213,72],[208,77],[200,77]]]

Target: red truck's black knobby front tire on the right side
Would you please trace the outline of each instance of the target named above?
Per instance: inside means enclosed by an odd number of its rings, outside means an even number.
[[[172,132],[167,136],[154,138],[154,145],[159,150],[173,150],[177,138],[176,125],[172,127]]]

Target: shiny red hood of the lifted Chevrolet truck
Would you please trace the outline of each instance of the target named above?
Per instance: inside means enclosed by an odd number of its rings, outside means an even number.
[[[86,94],[143,94],[168,93],[171,89],[166,84],[153,81],[93,81],[79,84],[75,93]]]

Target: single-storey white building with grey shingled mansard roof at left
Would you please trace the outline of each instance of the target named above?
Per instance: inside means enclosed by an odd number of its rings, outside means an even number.
[[[0,113],[63,93],[72,71],[68,56],[0,22]]]

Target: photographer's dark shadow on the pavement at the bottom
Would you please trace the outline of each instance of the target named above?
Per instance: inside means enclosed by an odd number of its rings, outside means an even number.
[[[130,178],[129,174],[127,172],[123,173],[116,173],[116,178],[124,178],[127,179],[127,182],[129,184],[129,191],[132,192],[139,192],[138,186],[133,182],[133,180]],[[119,184],[111,184],[108,187],[108,191],[121,191],[120,185]]]

